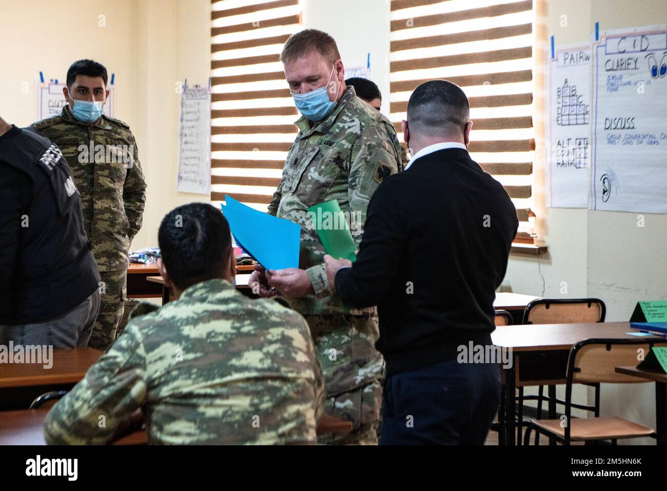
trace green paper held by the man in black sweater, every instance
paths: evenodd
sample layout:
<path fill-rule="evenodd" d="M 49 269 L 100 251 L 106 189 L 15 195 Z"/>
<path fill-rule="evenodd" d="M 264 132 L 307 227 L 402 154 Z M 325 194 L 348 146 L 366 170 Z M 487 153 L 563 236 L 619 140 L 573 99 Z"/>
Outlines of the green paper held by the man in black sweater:
<path fill-rule="evenodd" d="M 328 255 L 335 259 L 350 259 L 352 263 L 356 261 L 356 246 L 350 233 L 348 217 L 340 210 L 337 200 L 311 206 L 307 216 Z"/>

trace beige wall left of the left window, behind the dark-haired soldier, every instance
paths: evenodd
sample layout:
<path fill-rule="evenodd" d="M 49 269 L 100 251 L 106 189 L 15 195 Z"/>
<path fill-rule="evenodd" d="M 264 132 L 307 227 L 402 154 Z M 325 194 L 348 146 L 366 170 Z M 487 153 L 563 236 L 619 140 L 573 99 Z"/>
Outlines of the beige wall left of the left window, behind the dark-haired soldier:
<path fill-rule="evenodd" d="M 157 245 L 162 216 L 205 201 L 176 192 L 177 82 L 207 84 L 208 0 L 0 0 L 0 116 L 17 126 L 35 119 L 35 81 L 64 80 L 76 59 L 93 58 L 115 73 L 115 117 L 130 125 L 148 182 L 143 228 L 132 247 Z M 99 26 L 104 15 L 105 27 Z M 24 82 L 28 93 L 23 94 Z"/>

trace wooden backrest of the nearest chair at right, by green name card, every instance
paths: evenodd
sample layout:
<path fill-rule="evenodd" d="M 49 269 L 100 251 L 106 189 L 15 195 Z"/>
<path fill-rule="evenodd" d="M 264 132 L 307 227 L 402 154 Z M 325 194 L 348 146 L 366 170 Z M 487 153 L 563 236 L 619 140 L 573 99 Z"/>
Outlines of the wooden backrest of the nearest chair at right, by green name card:
<path fill-rule="evenodd" d="M 616 373 L 616 367 L 635 367 L 648 355 L 651 346 L 667 346 L 667 341 L 648 343 L 644 339 L 586 339 L 570 351 L 568 379 L 573 383 L 638 383 L 644 379 Z"/>

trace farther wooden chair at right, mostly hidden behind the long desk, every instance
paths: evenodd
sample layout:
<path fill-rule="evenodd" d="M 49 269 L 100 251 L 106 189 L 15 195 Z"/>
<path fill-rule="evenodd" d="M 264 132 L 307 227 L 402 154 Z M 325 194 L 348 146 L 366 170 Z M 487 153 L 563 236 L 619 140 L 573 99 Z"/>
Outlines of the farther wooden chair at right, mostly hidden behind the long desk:
<path fill-rule="evenodd" d="M 606 307 L 600 299 L 536 299 L 526 305 L 524 324 L 572 324 L 604 322 Z M 591 384 L 595 389 L 594 405 L 573 403 L 572 407 L 584 411 L 592 411 L 600 416 L 600 385 Z M 548 395 L 544 395 L 544 385 L 538 387 L 538 395 L 524 396 L 524 387 L 519 387 L 518 397 L 518 439 L 521 444 L 523 431 L 524 401 L 538 401 L 538 420 L 542 419 L 542 402 L 550 403 L 549 418 L 554 418 L 555 405 L 563 405 L 565 401 L 556 397 L 556 385 L 548 385 Z M 535 437 L 540 442 L 539 434 Z"/>

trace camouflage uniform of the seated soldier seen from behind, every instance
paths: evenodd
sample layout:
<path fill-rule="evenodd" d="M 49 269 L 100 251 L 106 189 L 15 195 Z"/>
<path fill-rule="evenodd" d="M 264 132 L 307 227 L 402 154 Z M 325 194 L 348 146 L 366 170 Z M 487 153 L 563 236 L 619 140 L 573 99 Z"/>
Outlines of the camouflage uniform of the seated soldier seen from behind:
<path fill-rule="evenodd" d="M 221 279 L 145 305 L 53 406 L 47 443 L 105 444 L 139 407 L 150 444 L 316 442 L 324 386 L 300 315 Z"/>

